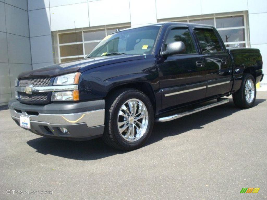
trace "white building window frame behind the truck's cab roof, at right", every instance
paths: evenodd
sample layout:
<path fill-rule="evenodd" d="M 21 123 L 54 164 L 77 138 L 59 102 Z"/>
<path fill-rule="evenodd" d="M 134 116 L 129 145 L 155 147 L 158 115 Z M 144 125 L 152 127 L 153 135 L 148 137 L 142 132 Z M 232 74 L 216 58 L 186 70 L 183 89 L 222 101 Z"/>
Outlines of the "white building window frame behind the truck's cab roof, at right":
<path fill-rule="evenodd" d="M 158 19 L 158 22 L 166 22 L 166 21 L 169 21 L 169 22 L 184 22 L 184 21 L 186 21 L 186 23 L 190 23 L 189 22 L 190 20 L 213 18 L 214 27 L 216 28 L 216 18 L 231 17 L 231 16 L 233 16 L 233 17 L 234 16 L 242 16 L 243 19 L 244 19 L 244 26 L 218 28 L 217 31 L 220 31 L 220 30 L 233 30 L 233 29 L 244 29 L 245 30 L 245 41 L 225 42 L 224 45 L 226 46 L 226 45 L 232 45 L 232 44 L 245 44 L 245 47 L 249 48 L 250 47 L 250 39 L 249 39 L 248 11 L 230 12 L 230 13 L 216 13 L 216 14 L 207 14 L 207 15 L 195 15 L 195 16 L 186 16 L 186 17 L 179 17 L 179 18 L 168 18 L 168 19 Z"/>

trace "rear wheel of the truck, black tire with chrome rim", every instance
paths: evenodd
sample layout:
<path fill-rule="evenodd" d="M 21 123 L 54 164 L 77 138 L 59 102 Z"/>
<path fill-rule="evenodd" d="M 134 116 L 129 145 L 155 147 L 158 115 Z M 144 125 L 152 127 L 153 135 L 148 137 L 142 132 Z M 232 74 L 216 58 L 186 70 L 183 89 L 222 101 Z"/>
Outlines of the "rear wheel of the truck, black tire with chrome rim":
<path fill-rule="evenodd" d="M 233 94 L 234 104 L 239 108 L 251 108 L 256 100 L 256 83 L 252 74 L 245 73 L 240 89 Z"/>

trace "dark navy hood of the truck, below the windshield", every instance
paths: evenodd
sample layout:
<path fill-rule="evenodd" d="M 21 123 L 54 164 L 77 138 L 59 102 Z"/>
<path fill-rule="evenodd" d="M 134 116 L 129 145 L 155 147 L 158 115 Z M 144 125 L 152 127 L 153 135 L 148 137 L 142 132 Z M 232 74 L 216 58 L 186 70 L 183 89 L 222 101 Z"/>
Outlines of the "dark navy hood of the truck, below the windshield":
<path fill-rule="evenodd" d="M 145 58 L 146 55 L 115 55 L 115 56 L 105 56 L 97 58 L 86 58 L 83 60 L 59 63 L 55 65 L 42 67 L 36 70 L 25 71 L 19 74 L 18 78 L 20 79 L 29 77 L 55 77 L 58 75 L 73 73 L 77 71 L 83 72 L 104 65 L 140 60 Z"/>

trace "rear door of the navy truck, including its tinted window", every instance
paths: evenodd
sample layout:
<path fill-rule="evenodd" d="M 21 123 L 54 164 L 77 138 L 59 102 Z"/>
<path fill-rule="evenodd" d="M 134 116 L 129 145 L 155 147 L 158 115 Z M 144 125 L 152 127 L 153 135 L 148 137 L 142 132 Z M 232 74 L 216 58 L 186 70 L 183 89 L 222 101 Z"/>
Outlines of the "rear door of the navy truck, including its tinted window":
<path fill-rule="evenodd" d="M 206 97 L 226 94 L 231 86 L 231 58 L 218 33 L 211 27 L 195 27 L 207 69 Z"/>

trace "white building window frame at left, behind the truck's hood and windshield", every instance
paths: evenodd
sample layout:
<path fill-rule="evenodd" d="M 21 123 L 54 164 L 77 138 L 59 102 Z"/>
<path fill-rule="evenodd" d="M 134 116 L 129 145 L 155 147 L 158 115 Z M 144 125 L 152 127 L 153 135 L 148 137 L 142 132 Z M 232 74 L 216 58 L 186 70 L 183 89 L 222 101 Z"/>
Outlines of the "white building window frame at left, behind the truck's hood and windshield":
<path fill-rule="evenodd" d="M 66 58 L 77 58 L 78 59 L 84 59 L 88 54 L 85 54 L 85 44 L 86 43 L 93 43 L 93 42 L 101 42 L 103 39 L 99 40 L 92 40 L 92 41 L 84 41 L 84 32 L 86 31 L 97 31 L 97 30 L 105 30 L 105 35 L 107 36 L 107 31 L 109 29 L 118 29 L 118 28 L 130 28 L 131 24 L 130 23 L 124 23 L 124 24 L 116 24 L 116 25 L 104 25 L 104 26 L 97 26 L 97 27 L 88 27 L 88 28 L 81 28 L 81 29 L 72 29 L 72 30 L 64 30 L 64 31 L 54 31 L 54 58 L 56 63 L 61 63 L 61 59 L 66 59 Z M 76 32 L 82 32 L 82 41 L 81 42 L 71 42 L 71 43 L 59 43 L 59 35 L 64 34 L 64 33 L 76 33 Z M 65 45 L 77 45 L 77 44 L 83 44 L 83 55 L 74 55 L 74 56 L 65 56 L 61 57 L 60 55 L 60 46 L 65 46 Z"/>

